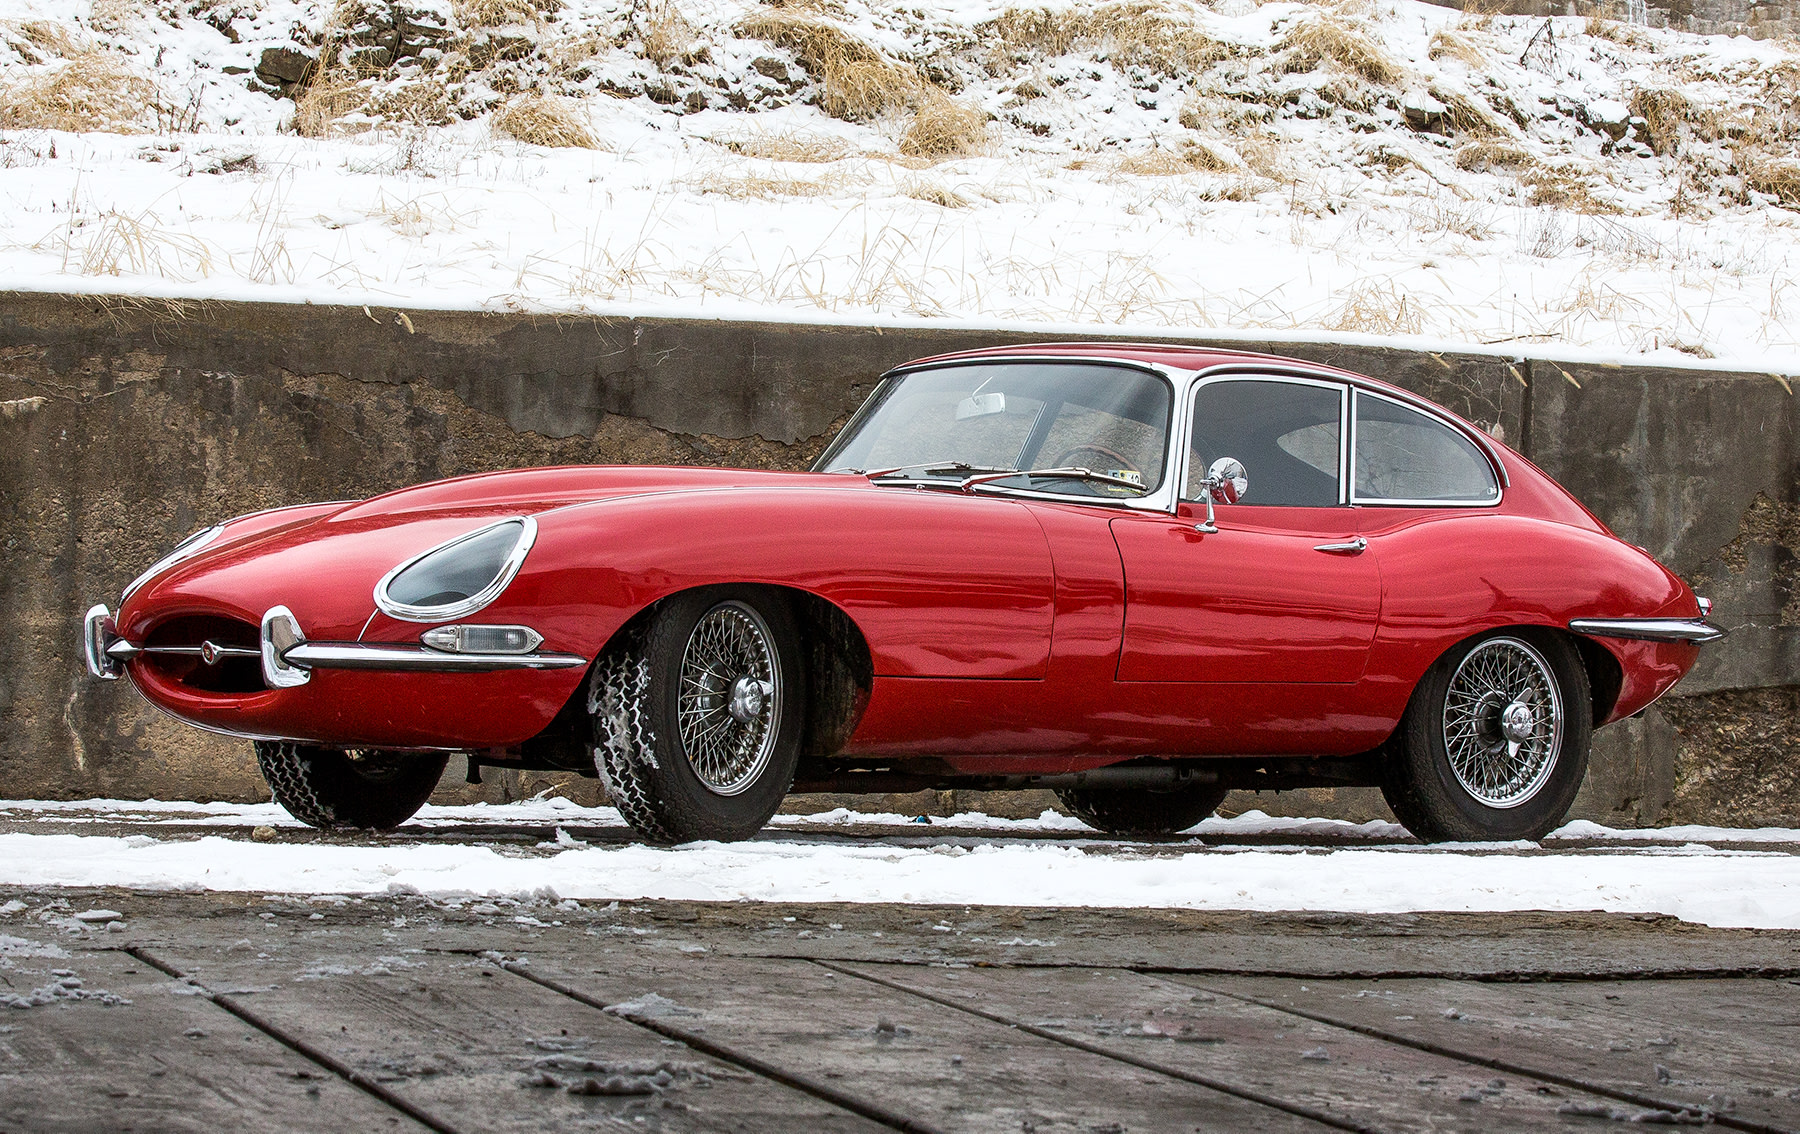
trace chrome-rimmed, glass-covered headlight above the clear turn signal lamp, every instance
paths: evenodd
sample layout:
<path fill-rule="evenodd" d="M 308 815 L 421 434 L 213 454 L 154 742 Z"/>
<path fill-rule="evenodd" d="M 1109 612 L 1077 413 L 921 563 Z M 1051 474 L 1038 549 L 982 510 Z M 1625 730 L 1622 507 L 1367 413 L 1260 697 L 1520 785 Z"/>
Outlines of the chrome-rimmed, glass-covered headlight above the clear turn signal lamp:
<path fill-rule="evenodd" d="M 531 517 L 477 527 L 394 567 L 374 587 L 374 605 L 409 623 L 443 623 L 500 598 L 538 538 Z"/>

